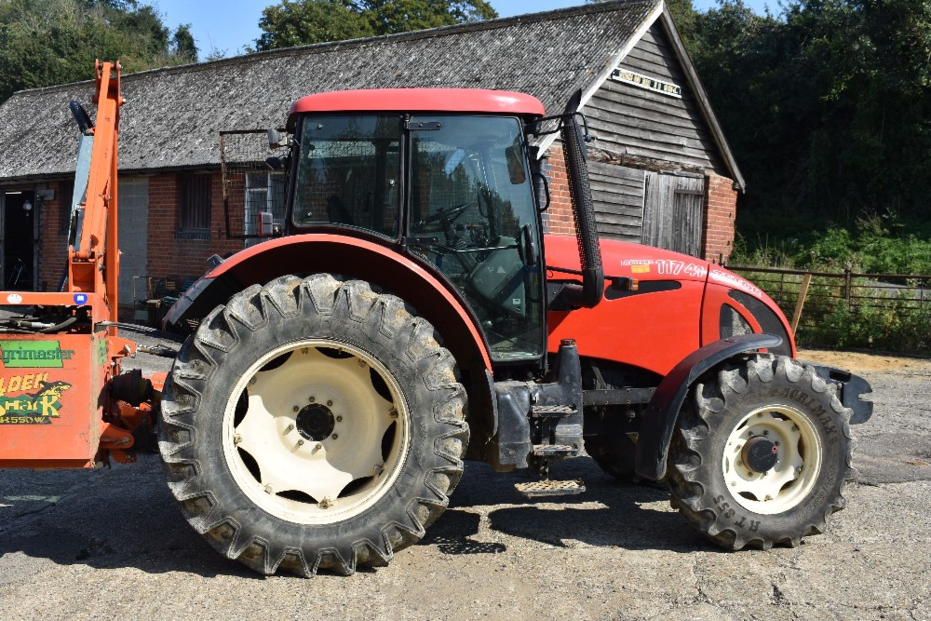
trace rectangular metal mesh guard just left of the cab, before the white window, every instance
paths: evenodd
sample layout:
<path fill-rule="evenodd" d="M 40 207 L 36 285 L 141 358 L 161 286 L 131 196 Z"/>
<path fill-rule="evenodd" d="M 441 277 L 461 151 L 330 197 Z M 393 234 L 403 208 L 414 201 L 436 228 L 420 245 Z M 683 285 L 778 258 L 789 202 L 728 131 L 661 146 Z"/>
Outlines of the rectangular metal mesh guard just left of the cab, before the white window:
<path fill-rule="evenodd" d="M 260 211 L 270 211 L 276 223 L 284 223 L 285 172 L 270 169 L 265 158 L 270 155 L 280 157 L 285 153 L 283 148 L 268 148 L 267 134 L 263 129 L 220 132 L 227 236 L 242 238 L 247 246 L 258 243 Z"/>

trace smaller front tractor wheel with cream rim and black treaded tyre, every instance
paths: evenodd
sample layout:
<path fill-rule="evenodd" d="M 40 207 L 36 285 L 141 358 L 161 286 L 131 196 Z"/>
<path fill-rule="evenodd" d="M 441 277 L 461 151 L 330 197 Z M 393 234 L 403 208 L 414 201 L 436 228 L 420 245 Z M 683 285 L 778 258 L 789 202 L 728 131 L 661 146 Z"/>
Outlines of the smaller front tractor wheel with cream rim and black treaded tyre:
<path fill-rule="evenodd" d="M 758 354 L 695 385 L 669 451 L 672 505 L 728 549 L 822 533 L 853 479 L 850 410 L 836 385 Z"/>

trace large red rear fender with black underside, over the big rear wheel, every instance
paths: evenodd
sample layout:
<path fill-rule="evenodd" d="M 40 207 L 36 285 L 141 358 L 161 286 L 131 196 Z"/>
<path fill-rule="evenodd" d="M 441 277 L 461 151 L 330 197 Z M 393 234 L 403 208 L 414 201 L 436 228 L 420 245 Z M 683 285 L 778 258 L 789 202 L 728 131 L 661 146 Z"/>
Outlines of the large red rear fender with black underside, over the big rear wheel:
<path fill-rule="evenodd" d="M 191 331 L 236 292 L 288 274 L 360 278 L 411 304 L 439 332 L 460 370 L 476 378 L 473 385 L 479 386 L 479 392 L 488 391 L 485 371 L 491 371 L 492 363 L 477 320 L 452 285 L 447 286 L 397 247 L 359 237 L 305 234 L 270 239 L 213 264 L 171 307 L 165 317 L 167 330 Z M 491 403 L 492 395 L 476 400 Z"/>

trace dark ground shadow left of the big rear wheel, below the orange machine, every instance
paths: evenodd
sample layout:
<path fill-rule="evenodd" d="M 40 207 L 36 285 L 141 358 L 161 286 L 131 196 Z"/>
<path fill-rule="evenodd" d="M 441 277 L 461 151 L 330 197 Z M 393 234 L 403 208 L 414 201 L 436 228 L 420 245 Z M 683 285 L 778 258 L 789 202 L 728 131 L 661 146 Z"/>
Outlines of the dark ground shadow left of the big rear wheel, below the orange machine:
<path fill-rule="evenodd" d="M 0 574 L 39 572 L 47 561 L 147 574 L 263 579 L 217 554 L 187 524 L 156 455 L 142 455 L 134 466 L 94 472 L 5 471 Z"/>

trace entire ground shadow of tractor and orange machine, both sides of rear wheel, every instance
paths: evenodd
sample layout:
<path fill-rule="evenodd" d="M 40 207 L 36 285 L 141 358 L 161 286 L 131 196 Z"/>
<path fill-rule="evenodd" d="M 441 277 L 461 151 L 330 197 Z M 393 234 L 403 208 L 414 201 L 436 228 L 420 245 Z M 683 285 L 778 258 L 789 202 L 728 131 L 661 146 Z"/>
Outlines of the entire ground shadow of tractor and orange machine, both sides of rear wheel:
<path fill-rule="evenodd" d="M 553 466 L 554 479 L 584 479 L 587 492 L 531 500 L 514 490 L 524 473 L 469 462 L 449 509 L 418 548 L 494 555 L 520 540 L 554 547 L 716 550 L 668 510 L 668 493 L 618 483 L 587 458 Z M 25 559 L 23 557 L 26 557 Z M 264 580 L 217 554 L 182 518 L 156 455 L 112 470 L 9 470 L 0 480 L 0 574 L 32 574 L 50 561 Z M 377 573 L 378 570 L 360 571 Z"/>

